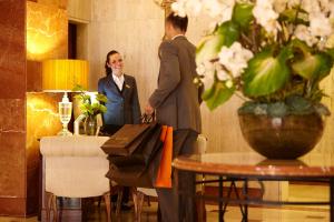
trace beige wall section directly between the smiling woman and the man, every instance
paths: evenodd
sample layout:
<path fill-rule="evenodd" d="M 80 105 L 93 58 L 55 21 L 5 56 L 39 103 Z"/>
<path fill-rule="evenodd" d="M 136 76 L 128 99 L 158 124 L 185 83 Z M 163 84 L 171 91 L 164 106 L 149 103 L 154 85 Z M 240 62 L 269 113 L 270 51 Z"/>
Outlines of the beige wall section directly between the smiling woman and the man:
<path fill-rule="evenodd" d="M 150 0 L 95 0 L 89 24 L 90 89 L 105 75 L 106 54 L 115 49 L 125 58 L 125 71 L 139 85 L 141 108 L 157 81 L 158 46 L 164 11 Z"/>

